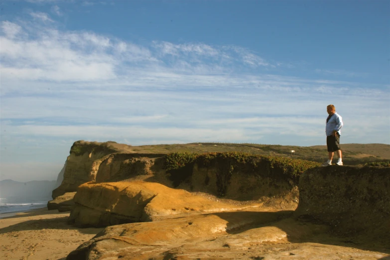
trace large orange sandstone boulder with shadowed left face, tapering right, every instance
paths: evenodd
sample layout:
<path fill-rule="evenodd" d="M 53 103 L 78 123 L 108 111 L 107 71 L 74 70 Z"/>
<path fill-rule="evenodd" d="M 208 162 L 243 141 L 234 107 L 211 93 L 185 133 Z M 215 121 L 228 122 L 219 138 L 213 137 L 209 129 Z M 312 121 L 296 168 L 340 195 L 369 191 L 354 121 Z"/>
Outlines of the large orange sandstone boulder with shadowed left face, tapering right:
<path fill-rule="evenodd" d="M 235 206 L 145 181 L 86 183 L 74 197 L 69 217 L 77 226 L 105 227 L 166 217 L 258 208 L 259 203 Z"/>

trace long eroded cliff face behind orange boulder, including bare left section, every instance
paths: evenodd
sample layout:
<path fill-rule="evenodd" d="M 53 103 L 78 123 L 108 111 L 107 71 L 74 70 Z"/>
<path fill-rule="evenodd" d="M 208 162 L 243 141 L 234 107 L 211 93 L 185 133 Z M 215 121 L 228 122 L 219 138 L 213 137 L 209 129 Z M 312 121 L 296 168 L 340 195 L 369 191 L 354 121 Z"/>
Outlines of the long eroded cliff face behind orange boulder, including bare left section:
<path fill-rule="evenodd" d="M 96 182 L 124 180 L 146 180 L 157 182 L 170 188 L 190 192 L 202 192 L 239 201 L 273 199 L 278 206 L 296 207 L 298 202 L 297 183 L 280 176 L 264 172 L 253 172 L 238 168 L 229 178 L 221 177 L 216 165 L 204 167 L 197 163 L 189 164 L 180 170 L 166 171 L 162 154 L 111 154 L 101 162 Z M 220 196 L 221 197 L 221 196 Z M 276 204 L 275 204 L 276 205 Z"/>

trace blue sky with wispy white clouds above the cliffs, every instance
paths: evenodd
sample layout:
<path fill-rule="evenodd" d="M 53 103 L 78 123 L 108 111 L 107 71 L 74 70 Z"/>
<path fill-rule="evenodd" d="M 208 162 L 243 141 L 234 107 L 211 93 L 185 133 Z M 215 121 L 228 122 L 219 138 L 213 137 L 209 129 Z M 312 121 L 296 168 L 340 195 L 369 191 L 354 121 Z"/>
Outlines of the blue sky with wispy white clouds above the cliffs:
<path fill-rule="evenodd" d="M 55 179 L 79 139 L 325 144 L 329 104 L 342 143 L 390 143 L 390 1 L 0 9 L 1 179 Z"/>

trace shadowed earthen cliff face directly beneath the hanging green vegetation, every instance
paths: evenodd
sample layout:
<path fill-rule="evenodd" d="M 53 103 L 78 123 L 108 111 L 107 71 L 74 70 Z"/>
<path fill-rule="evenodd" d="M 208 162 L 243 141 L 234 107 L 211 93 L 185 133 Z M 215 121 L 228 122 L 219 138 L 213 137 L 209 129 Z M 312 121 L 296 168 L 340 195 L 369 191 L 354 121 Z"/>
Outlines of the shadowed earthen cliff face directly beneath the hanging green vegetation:
<path fill-rule="evenodd" d="M 297 184 L 287 178 L 269 175 L 265 170 L 254 172 L 237 168 L 229 177 L 221 176 L 218 166 L 202 167 L 194 164 L 190 176 L 176 188 L 205 192 L 223 198 L 249 201 L 260 200 L 278 207 L 295 208 L 298 202 Z"/>

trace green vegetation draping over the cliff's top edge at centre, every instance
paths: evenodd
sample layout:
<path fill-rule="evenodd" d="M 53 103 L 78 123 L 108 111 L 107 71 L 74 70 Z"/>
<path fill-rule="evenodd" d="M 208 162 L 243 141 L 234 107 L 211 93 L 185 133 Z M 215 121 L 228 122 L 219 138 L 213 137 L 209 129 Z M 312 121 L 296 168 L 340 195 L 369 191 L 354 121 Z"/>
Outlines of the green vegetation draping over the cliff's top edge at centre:
<path fill-rule="evenodd" d="M 296 186 L 301 173 L 320 165 L 320 163 L 313 161 L 243 152 L 209 152 L 202 154 L 175 152 L 164 156 L 164 168 L 174 185 L 179 185 L 192 175 L 195 163 L 201 168 L 214 167 L 217 169 L 218 194 L 221 196 L 224 196 L 234 172 L 284 179 L 290 185 Z"/>

